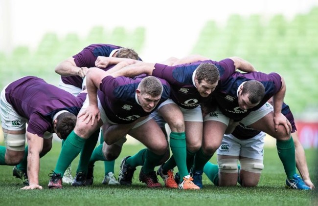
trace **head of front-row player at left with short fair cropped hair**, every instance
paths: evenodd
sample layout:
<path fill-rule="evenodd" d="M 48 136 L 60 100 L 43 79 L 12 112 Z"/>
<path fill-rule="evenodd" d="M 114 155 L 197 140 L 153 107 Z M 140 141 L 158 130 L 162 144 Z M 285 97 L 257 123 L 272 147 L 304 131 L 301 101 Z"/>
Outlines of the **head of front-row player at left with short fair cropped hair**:
<path fill-rule="evenodd" d="M 159 103 L 163 91 L 162 83 L 156 77 L 142 79 L 136 90 L 137 99 L 146 112 L 151 112 Z"/>

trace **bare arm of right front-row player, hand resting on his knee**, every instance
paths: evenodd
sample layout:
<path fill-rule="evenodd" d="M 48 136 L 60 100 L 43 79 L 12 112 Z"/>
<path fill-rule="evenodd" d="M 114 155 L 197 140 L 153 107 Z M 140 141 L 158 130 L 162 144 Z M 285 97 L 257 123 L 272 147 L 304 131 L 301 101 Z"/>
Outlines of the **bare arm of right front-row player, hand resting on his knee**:
<path fill-rule="evenodd" d="M 283 77 L 281 77 L 281 82 L 282 84 L 279 91 L 273 96 L 275 131 L 278 130 L 278 125 L 282 124 L 284 125 L 286 132 L 289 134 L 290 131 L 292 130 L 292 125 L 286 119 L 286 117 L 281 113 L 282 105 L 284 103 L 284 97 L 286 93 L 286 84 Z"/>

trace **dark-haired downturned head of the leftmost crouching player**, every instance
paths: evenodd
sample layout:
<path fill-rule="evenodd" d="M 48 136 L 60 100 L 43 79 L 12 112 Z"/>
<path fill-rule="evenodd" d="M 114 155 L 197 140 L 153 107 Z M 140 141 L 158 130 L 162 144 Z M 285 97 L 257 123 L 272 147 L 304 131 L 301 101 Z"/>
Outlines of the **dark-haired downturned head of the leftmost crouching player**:
<path fill-rule="evenodd" d="M 55 133 L 62 140 L 65 140 L 68 137 L 75 125 L 76 116 L 69 112 L 63 112 L 54 120 Z"/>

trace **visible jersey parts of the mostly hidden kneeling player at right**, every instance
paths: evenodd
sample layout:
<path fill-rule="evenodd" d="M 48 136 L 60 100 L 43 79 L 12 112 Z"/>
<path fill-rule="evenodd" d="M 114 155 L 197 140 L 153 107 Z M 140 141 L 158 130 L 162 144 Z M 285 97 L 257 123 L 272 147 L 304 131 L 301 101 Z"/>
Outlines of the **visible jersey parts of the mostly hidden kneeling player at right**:
<path fill-rule="evenodd" d="M 291 132 L 294 133 L 297 130 L 296 125 L 295 125 L 294 116 L 293 116 L 293 113 L 291 112 L 291 110 L 289 109 L 289 106 L 285 103 L 283 103 L 283 106 L 282 106 L 282 114 L 292 124 L 292 131 Z M 260 133 L 259 130 L 253 129 L 249 126 L 245 126 L 244 124 L 240 123 L 239 125 L 237 125 L 235 127 L 234 131 L 232 132 L 232 135 L 239 140 L 247 140 L 247 139 L 255 137 L 259 133 Z"/>

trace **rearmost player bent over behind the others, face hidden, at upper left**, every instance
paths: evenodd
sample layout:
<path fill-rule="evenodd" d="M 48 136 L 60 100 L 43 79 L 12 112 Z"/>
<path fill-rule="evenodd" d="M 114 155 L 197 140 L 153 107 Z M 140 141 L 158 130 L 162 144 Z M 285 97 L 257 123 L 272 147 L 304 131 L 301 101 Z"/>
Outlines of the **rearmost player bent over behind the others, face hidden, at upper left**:
<path fill-rule="evenodd" d="M 140 60 L 138 54 L 129 48 L 123 48 L 121 46 L 115 46 L 111 44 L 91 44 L 85 47 L 78 54 L 67 60 L 61 62 L 56 66 L 55 72 L 61 75 L 59 87 L 70 92 L 71 94 L 77 95 L 82 91 L 83 79 L 86 76 L 87 70 L 90 67 L 94 67 L 96 62 L 103 61 L 104 66 L 101 67 L 103 70 L 107 70 L 109 67 L 106 65 L 116 64 L 112 58 L 104 61 L 104 57 L 117 57 L 117 58 L 128 58 Z M 103 143 L 103 137 L 101 134 L 101 143 Z M 62 145 L 64 144 L 64 141 Z M 88 142 L 87 142 L 88 144 Z M 93 142 L 91 144 L 94 144 Z M 107 149 L 107 152 L 114 153 L 120 148 L 116 146 Z M 105 161 L 105 177 L 103 184 L 116 185 L 119 184 L 114 177 L 114 161 Z M 75 176 L 75 180 L 77 176 Z M 66 170 L 63 176 L 64 183 L 72 183 L 72 174 L 70 166 Z"/>

